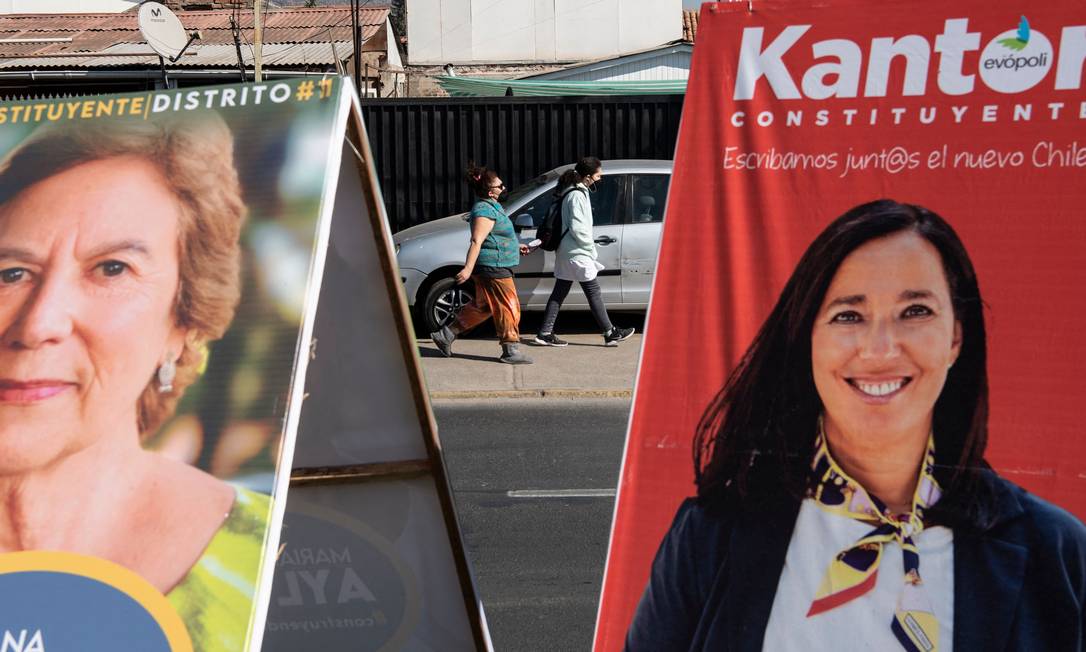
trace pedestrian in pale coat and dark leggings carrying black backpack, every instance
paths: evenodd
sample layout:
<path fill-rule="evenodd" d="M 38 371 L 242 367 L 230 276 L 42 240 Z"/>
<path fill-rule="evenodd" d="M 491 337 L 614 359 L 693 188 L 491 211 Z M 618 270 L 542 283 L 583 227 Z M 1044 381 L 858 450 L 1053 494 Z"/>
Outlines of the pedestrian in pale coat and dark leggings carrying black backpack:
<path fill-rule="evenodd" d="M 596 243 L 592 239 L 592 202 L 589 191 L 603 177 L 603 165 L 595 156 L 581 159 L 572 170 L 567 170 L 558 179 L 555 201 L 561 202 L 561 241 L 555 252 L 554 289 L 546 302 L 543 324 L 534 343 L 544 347 L 565 347 L 568 342 L 554 334 L 561 302 L 569 294 L 573 281 L 581 284 L 589 300 L 592 315 L 599 325 L 605 347 L 617 347 L 631 335 L 633 328 L 617 328 L 607 316 L 603 293 L 596 274 L 604 268 L 596 260 Z"/>

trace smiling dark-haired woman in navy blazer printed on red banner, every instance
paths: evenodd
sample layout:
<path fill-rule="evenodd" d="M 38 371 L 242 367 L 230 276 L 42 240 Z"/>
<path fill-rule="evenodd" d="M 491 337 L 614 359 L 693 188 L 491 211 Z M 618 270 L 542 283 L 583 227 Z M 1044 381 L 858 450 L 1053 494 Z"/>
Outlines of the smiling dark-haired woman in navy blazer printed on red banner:
<path fill-rule="evenodd" d="M 833 222 L 703 416 L 627 649 L 1084 649 L 1086 528 L 984 461 L 983 308 L 938 215 Z"/>

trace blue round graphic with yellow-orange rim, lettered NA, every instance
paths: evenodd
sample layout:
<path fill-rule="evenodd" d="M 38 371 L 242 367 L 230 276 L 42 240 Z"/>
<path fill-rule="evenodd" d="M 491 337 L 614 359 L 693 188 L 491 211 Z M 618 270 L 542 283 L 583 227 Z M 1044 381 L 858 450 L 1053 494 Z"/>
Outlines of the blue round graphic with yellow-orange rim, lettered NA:
<path fill-rule="evenodd" d="M 0 651 L 192 650 L 179 616 L 135 573 L 59 552 L 0 555 Z"/>

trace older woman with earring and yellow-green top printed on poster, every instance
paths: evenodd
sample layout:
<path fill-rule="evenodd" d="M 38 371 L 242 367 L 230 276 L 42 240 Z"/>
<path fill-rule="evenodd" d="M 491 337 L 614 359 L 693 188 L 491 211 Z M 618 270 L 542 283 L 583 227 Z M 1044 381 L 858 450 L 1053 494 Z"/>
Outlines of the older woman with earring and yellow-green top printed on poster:
<path fill-rule="evenodd" d="M 241 649 L 266 497 L 141 442 L 238 303 L 244 213 L 217 116 L 46 126 L 0 166 L 0 553 L 67 551 Z"/>

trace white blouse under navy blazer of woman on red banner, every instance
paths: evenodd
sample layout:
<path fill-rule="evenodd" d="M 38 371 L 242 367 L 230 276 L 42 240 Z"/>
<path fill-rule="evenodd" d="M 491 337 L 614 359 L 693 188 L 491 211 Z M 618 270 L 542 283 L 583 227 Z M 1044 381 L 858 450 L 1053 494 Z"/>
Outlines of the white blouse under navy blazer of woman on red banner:
<path fill-rule="evenodd" d="M 879 576 L 871 591 L 836 609 L 807 617 L 830 562 L 874 526 L 831 514 L 806 499 L 792 532 L 776 597 L 769 614 L 762 650 L 767 652 L 899 652 L 891 631 L 905 585 L 900 543 L 883 546 Z M 920 551 L 920 577 L 939 623 L 939 652 L 954 642 L 954 535 L 949 528 L 925 528 L 913 537 Z"/>

